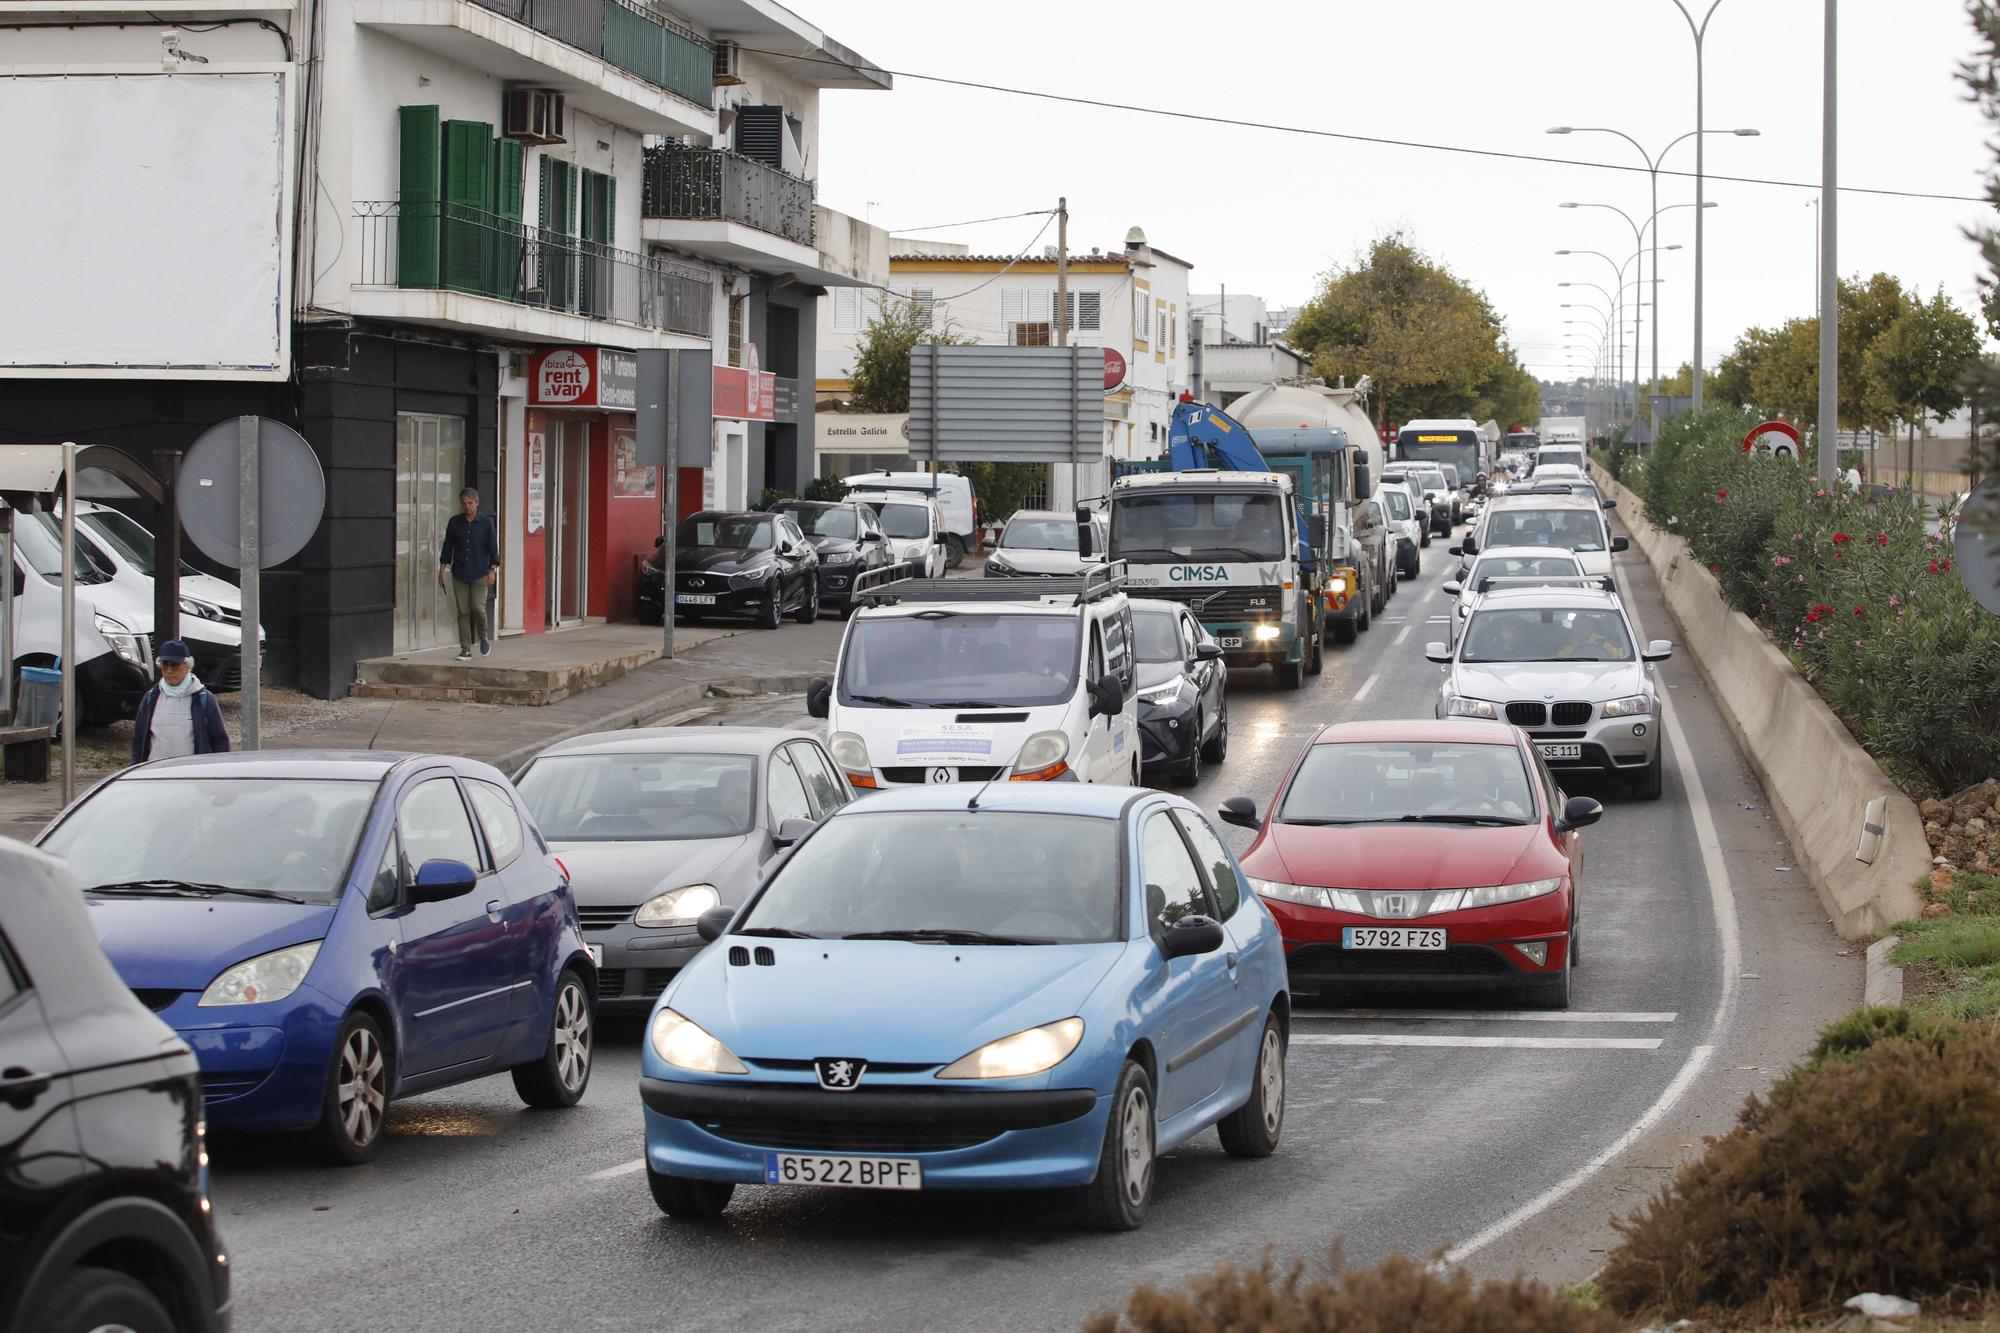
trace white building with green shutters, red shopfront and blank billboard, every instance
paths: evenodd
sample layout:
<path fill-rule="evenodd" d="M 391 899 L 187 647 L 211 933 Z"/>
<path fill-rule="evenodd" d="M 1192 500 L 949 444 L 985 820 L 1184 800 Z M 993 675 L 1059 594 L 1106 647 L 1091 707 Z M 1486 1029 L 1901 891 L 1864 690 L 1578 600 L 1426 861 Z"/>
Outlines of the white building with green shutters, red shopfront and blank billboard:
<path fill-rule="evenodd" d="M 0 106 L 50 132 L 48 226 L 0 254 L 0 306 L 58 314 L 0 340 L 0 432 L 154 462 L 242 412 L 298 428 L 326 508 L 266 576 L 274 681 L 338 697 L 358 660 L 456 640 L 436 550 L 466 484 L 500 522 L 502 632 L 632 616 L 666 518 L 640 350 L 712 366 L 682 374 L 714 422 L 682 440 L 682 512 L 812 476 L 818 294 L 858 280 L 816 244 L 818 96 L 890 80 L 788 10 L 6 10 Z M 148 244 L 112 246 L 106 210 Z"/>

